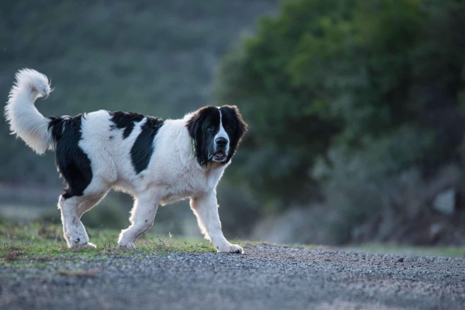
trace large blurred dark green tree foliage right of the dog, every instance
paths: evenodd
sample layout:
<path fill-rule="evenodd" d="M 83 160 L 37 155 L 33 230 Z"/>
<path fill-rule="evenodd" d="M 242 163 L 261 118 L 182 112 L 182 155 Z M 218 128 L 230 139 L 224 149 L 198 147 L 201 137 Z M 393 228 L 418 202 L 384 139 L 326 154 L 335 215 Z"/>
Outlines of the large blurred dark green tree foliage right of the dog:
<path fill-rule="evenodd" d="M 255 197 L 286 208 L 320 197 L 314 181 L 325 182 L 312 169 L 317 161 L 332 169 L 331 149 L 344 149 L 344 161 L 369 153 L 382 177 L 412 166 L 427 175 L 457 160 L 460 29 L 465 3 L 457 0 L 283 2 L 219 70 L 219 102 L 239 104 L 250 123 L 237 177 L 252 175 Z"/>

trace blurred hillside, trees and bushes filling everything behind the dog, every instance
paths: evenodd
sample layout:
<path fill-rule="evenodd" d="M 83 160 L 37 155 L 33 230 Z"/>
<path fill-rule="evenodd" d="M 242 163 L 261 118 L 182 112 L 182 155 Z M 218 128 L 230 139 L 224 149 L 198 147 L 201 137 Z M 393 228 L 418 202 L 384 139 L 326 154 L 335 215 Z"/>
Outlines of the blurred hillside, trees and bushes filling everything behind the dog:
<path fill-rule="evenodd" d="M 180 118 L 235 104 L 249 124 L 219 183 L 227 238 L 465 244 L 465 1 L 0 2 L 0 94 L 45 73 L 45 116 Z M 54 153 L 0 122 L 0 223 L 60 222 Z M 112 193 L 83 216 L 126 227 Z M 200 236 L 184 201 L 155 233 Z"/>

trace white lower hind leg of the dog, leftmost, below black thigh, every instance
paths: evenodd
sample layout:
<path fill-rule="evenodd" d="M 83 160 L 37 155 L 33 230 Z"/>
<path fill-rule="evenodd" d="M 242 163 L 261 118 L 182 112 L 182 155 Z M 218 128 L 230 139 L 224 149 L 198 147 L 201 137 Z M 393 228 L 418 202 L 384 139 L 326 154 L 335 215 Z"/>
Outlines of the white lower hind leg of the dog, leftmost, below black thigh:
<path fill-rule="evenodd" d="M 72 196 L 65 199 L 63 195 L 60 195 L 58 200 L 58 207 L 61 211 L 61 222 L 63 224 L 63 236 L 70 248 L 96 247 L 92 243 L 89 243 L 86 229 L 77 213 L 80 203 L 84 200 L 86 198 L 83 196 Z"/>

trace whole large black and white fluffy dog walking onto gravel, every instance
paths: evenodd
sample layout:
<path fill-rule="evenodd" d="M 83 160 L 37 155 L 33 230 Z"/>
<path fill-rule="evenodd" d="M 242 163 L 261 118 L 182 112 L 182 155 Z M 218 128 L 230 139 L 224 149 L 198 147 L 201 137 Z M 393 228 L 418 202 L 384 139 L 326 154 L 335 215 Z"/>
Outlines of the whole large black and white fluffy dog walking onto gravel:
<path fill-rule="evenodd" d="M 34 101 L 50 91 L 45 75 L 18 71 L 5 116 L 11 133 L 36 153 L 56 150 L 67 183 L 58 208 L 69 247 L 95 247 L 80 217 L 114 188 L 134 197 L 121 246 L 134 246 L 159 204 L 189 198 L 205 238 L 219 252 L 243 252 L 223 236 L 215 190 L 247 130 L 236 106 L 206 106 L 177 120 L 106 110 L 44 117 Z"/>

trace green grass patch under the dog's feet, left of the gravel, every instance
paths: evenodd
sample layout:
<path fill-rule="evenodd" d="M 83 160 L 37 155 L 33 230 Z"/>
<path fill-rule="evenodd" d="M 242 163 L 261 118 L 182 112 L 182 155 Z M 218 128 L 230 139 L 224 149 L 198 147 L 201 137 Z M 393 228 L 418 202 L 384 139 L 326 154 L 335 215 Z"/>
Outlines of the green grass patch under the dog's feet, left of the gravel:
<path fill-rule="evenodd" d="M 0 262 L 32 259 L 39 262 L 54 258 L 105 259 L 108 255 L 165 255 L 169 252 L 216 252 L 207 240 L 176 238 L 168 235 L 143 234 L 134 249 L 120 248 L 116 243 L 119 230 L 88 229 L 96 249 L 69 249 L 61 225 L 33 223 L 25 226 L 0 224 Z"/>

